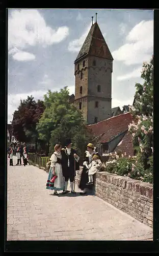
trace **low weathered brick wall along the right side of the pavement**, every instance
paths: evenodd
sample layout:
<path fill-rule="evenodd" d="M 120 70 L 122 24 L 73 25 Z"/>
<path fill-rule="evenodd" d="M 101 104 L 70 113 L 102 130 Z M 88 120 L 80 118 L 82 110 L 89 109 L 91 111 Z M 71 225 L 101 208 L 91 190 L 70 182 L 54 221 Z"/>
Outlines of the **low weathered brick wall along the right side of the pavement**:
<path fill-rule="evenodd" d="M 82 167 L 76 173 L 77 183 L 80 181 L 81 172 Z M 94 181 L 96 196 L 152 227 L 152 184 L 107 172 L 97 173 Z"/>

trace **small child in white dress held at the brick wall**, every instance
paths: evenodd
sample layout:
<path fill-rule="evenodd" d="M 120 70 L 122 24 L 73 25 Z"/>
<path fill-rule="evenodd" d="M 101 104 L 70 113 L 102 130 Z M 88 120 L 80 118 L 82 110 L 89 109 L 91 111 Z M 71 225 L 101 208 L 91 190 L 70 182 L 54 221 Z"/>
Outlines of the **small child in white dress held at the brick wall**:
<path fill-rule="evenodd" d="M 88 179 L 89 179 L 89 182 L 87 183 L 88 185 L 89 184 L 92 184 L 93 183 L 93 175 L 97 172 L 100 171 L 100 168 L 102 167 L 102 162 L 101 160 L 99 159 L 99 156 L 98 155 L 93 155 L 92 157 L 92 161 L 91 163 L 88 165 L 89 167 L 89 170 L 88 170 Z"/>

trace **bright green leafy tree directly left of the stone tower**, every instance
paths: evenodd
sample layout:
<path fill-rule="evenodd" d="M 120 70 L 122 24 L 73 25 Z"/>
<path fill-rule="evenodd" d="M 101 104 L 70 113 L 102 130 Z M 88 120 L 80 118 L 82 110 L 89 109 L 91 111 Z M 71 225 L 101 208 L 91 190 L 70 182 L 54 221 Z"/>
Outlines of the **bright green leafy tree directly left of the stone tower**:
<path fill-rule="evenodd" d="M 83 115 L 69 102 L 67 87 L 60 92 L 48 91 L 44 95 L 45 111 L 37 124 L 40 139 L 50 142 L 49 152 L 56 143 L 64 145 L 71 138 L 78 154 L 82 154 L 90 134 L 87 131 Z"/>

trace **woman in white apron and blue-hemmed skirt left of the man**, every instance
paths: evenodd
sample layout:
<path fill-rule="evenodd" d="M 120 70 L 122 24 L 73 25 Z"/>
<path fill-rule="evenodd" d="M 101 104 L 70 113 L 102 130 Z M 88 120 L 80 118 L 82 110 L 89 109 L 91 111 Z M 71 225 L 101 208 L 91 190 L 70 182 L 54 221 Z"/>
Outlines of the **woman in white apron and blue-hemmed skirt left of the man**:
<path fill-rule="evenodd" d="M 46 189 L 54 190 L 54 195 L 58 196 L 57 190 L 64 189 L 64 177 L 62 173 L 62 165 L 61 165 L 61 148 L 60 144 L 56 144 L 54 147 L 55 152 L 50 157 L 50 169 L 48 174 L 48 179 L 46 183 Z M 57 176 L 54 183 L 50 182 L 52 176 Z"/>

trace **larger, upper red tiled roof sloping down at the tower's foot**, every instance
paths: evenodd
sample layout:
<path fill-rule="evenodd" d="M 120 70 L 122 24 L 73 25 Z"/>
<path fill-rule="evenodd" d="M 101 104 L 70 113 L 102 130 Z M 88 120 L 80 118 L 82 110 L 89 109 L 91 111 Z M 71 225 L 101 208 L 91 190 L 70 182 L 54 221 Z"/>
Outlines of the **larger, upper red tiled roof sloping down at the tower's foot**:
<path fill-rule="evenodd" d="M 87 125 L 88 129 L 99 136 L 98 142 L 109 142 L 114 136 L 128 130 L 128 124 L 133 121 L 130 112 L 111 117 L 95 124 Z"/>

